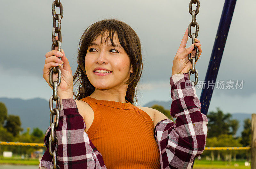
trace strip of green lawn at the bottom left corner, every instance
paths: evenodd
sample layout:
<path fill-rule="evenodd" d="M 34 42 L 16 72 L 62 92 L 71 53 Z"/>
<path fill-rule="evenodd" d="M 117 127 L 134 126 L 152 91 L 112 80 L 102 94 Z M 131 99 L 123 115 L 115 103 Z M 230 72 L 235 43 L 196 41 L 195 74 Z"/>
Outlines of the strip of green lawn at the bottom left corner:
<path fill-rule="evenodd" d="M 38 159 L 0 158 L 0 164 L 39 165 Z"/>

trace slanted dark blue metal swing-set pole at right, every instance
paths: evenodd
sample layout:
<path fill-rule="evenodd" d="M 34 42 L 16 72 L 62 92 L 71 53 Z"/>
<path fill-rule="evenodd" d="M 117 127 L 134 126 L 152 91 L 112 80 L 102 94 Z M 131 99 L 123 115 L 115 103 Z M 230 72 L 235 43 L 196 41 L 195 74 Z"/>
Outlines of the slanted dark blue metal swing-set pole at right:
<path fill-rule="evenodd" d="M 216 78 L 220 68 L 220 61 L 225 48 L 226 40 L 228 37 L 228 31 L 233 17 L 233 13 L 236 6 L 236 0 L 225 0 L 222 14 L 220 17 L 220 23 L 216 34 L 215 42 L 212 48 L 212 55 L 208 65 L 208 69 L 205 76 L 205 86 L 201 92 L 200 102 L 202 106 L 202 113 L 207 115 L 210 101 L 212 98 L 212 92 L 215 86 Z M 213 84 L 213 87 L 209 83 Z M 207 89 L 208 88 L 208 89 Z M 195 162 L 195 158 L 192 164 L 192 168 Z"/>

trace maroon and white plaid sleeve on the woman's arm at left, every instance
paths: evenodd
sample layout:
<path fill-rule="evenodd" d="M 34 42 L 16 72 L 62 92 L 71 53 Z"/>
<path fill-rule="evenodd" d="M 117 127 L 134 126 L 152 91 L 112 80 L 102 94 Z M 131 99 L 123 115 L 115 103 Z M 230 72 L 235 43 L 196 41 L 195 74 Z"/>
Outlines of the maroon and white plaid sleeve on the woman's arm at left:
<path fill-rule="evenodd" d="M 59 127 L 56 129 L 58 138 L 58 165 L 60 168 L 106 169 L 102 155 L 92 144 L 85 129 L 83 117 L 78 113 L 74 99 L 62 99 Z M 53 158 L 49 153 L 49 127 L 44 138 L 45 151 L 39 168 L 50 169 Z M 57 150 L 55 144 L 53 149 Z"/>

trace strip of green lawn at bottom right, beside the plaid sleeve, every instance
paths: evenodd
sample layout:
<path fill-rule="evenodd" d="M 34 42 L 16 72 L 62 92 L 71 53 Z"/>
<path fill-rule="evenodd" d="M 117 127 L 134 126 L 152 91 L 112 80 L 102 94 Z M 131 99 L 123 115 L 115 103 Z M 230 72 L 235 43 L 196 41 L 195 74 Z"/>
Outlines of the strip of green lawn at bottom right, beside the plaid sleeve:
<path fill-rule="evenodd" d="M 228 161 L 207 161 L 207 160 L 195 160 L 193 169 L 219 169 L 219 168 L 237 168 L 237 169 L 249 169 L 251 166 L 246 167 L 244 161 L 231 161 L 231 164 L 228 165 Z M 235 167 L 235 164 L 239 166 Z"/>

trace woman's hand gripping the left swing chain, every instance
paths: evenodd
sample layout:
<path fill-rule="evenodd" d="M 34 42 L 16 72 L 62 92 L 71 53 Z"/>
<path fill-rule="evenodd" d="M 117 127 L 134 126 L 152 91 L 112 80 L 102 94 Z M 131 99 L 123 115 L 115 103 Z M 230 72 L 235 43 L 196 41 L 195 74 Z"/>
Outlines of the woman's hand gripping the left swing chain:
<path fill-rule="evenodd" d="M 58 40 L 58 37 L 56 36 L 56 40 Z M 44 63 L 44 80 L 48 83 L 48 85 L 53 89 L 53 87 L 49 83 L 49 73 L 51 67 L 59 66 L 60 64 L 60 70 L 61 70 L 61 81 L 60 85 L 58 86 L 58 95 L 59 96 L 66 96 L 73 99 L 73 75 L 72 70 L 69 65 L 68 59 L 65 56 L 65 53 L 63 49 L 61 49 L 61 52 L 57 50 L 58 48 L 55 47 L 55 50 L 52 50 L 50 52 L 47 52 L 45 54 L 45 63 Z M 60 57 L 61 60 L 58 58 Z M 54 80 L 57 81 L 58 74 L 53 73 L 52 75 L 52 82 Z M 61 98 L 62 99 L 62 98 Z"/>

